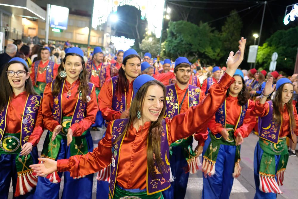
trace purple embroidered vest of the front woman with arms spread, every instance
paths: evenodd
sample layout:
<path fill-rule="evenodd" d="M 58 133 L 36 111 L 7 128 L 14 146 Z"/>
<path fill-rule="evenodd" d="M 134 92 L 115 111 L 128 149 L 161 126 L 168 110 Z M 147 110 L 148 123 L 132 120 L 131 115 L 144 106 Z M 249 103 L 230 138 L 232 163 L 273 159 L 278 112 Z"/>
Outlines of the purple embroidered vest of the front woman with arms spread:
<path fill-rule="evenodd" d="M 114 120 L 112 124 L 112 143 L 116 141 L 119 135 L 123 132 L 125 125 L 128 123 L 129 118 Z M 155 174 L 156 178 L 152 178 L 147 169 L 147 178 L 146 178 L 146 188 L 147 195 L 152 195 L 157 192 L 162 192 L 170 187 L 170 163 L 169 163 L 169 142 L 168 142 L 168 133 L 165 120 L 162 121 L 162 132 L 161 136 L 161 146 L 160 152 L 162 161 L 164 162 L 164 168 L 162 171 L 159 171 L 158 174 Z M 123 132 L 125 133 L 125 132 Z M 125 134 L 122 139 L 112 145 L 112 166 L 111 166 L 111 178 L 109 183 L 109 189 L 112 197 L 114 196 L 116 181 L 117 181 L 117 172 L 119 165 L 119 157 L 121 152 L 121 145 L 125 138 Z M 164 157 L 164 158 L 163 158 Z M 157 165 L 154 162 L 154 166 Z"/>

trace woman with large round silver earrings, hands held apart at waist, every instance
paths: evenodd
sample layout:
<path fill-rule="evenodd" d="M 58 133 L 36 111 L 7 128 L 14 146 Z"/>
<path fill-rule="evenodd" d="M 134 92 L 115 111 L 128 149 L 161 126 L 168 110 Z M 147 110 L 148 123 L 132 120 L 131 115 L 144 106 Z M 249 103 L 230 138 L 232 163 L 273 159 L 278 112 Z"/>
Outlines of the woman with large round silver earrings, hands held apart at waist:
<path fill-rule="evenodd" d="M 69 48 L 58 75 L 44 90 L 42 115 L 48 129 L 41 157 L 59 160 L 93 150 L 89 132 L 94 123 L 97 100 L 94 85 L 87 81 L 83 51 Z M 38 179 L 34 198 L 59 198 L 62 172 Z M 79 179 L 78 179 L 79 178 Z M 62 198 L 91 198 L 93 174 L 72 178 L 64 173 Z"/>

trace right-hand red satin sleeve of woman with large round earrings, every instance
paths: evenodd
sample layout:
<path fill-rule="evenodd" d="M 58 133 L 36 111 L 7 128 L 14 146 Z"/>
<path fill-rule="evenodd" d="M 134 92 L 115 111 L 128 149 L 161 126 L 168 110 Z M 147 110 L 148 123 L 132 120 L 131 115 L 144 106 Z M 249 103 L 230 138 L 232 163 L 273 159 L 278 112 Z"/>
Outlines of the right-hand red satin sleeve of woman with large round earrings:
<path fill-rule="evenodd" d="M 73 136 L 82 135 L 82 133 L 88 130 L 95 122 L 96 114 L 98 112 L 95 87 L 93 87 L 91 91 L 90 98 L 91 100 L 87 103 L 85 118 L 79 123 L 72 124 L 70 127 L 73 131 Z"/>

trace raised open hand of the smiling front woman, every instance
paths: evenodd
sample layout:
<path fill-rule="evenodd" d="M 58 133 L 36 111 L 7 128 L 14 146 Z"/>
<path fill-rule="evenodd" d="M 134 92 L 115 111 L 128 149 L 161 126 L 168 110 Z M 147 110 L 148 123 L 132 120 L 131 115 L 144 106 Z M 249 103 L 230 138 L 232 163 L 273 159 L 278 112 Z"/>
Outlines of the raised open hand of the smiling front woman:
<path fill-rule="evenodd" d="M 238 46 L 239 50 L 237 51 L 237 53 L 235 53 L 235 55 L 234 55 L 234 52 L 231 51 L 228 59 L 226 60 L 226 66 L 227 66 L 226 73 L 229 74 L 231 77 L 234 75 L 236 69 L 243 61 L 245 44 L 246 44 L 246 39 L 244 39 L 244 37 L 241 37 L 241 39 L 239 40 L 239 46 Z"/>

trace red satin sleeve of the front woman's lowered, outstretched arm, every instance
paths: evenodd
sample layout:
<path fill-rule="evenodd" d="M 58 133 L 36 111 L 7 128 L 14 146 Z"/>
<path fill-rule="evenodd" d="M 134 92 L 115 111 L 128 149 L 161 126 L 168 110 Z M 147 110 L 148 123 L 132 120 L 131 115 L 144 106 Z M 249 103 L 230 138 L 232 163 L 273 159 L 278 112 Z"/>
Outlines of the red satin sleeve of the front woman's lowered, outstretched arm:
<path fill-rule="evenodd" d="M 93 152 L 85 155 L 74 155 L 69 159 L 57 161 L 58 172 L 69 171 L 71 177 L 88 175 L 104 169 L 111 163 L 112 157 L 112 122 L 108 124 L 105 137 L 101 139 Z"/>

